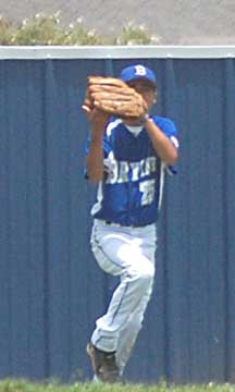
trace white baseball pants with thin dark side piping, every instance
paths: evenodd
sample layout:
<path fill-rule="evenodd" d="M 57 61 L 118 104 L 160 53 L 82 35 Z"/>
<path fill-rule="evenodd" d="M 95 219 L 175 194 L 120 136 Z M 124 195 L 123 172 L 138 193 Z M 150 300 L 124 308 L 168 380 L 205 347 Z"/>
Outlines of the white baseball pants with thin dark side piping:
<path fill-rule="evenodd" d="M 90 243 L 100 268 L 120 277 L 107 314 L 96 321 L 91 342 L 99 350 L 116 352 L 122 373 L 152 292 L 156 224 L 127 228 L 95 220 Z"/>

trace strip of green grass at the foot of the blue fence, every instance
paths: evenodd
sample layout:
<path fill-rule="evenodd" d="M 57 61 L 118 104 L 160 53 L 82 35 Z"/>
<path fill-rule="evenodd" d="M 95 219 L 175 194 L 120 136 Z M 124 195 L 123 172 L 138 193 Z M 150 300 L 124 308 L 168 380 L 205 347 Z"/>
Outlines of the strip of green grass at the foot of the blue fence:
<path fill-rule="evenodd" d="M 146 384 L 98 384 L 92 382 L 62 385 L 55 382 L 34 383 L 25 380 L 2 380 L 0 392 L 235 392 L 235 384 L 203 385 L 156 385 Z"/>

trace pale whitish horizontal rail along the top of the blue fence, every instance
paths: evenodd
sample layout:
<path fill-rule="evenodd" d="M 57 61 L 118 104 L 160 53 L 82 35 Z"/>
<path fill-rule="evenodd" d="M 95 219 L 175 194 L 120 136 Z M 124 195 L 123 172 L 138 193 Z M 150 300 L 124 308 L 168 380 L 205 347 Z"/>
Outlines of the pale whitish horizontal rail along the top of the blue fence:
<path fill-rule="evenodd" d="M 221 59 L 235 58 L 235 46 L 0 46 L 8 59 Z"/>

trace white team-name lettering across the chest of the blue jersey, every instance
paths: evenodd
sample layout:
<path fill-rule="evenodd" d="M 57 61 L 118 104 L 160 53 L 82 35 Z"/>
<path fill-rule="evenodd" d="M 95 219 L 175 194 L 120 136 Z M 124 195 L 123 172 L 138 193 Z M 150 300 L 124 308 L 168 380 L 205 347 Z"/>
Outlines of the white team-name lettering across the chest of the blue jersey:
<path fill-rule="evenodd" d="M 157 159 L 156 157 L 147 157 L 139 162 L 118 161 L 114 159 L 113 152 L 104 160 L 104 169 L 107 184 L 125 183 L 131 181 L 138 181 L 146 175 L 156 172 Z"/>

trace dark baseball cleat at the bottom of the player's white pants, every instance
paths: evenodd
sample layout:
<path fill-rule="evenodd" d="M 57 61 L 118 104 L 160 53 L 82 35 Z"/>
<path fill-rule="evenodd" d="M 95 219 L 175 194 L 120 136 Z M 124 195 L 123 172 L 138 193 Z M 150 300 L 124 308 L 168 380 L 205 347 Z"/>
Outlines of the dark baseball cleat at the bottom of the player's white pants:
<path fill-rule="evenodd" d="M 97 348 L 92 343 L 87 344 L 92 369 L 97 378 L 103 382 L 119 382 L 120 370 L 115 363 L 115 353 L 107 353 Z"/>

